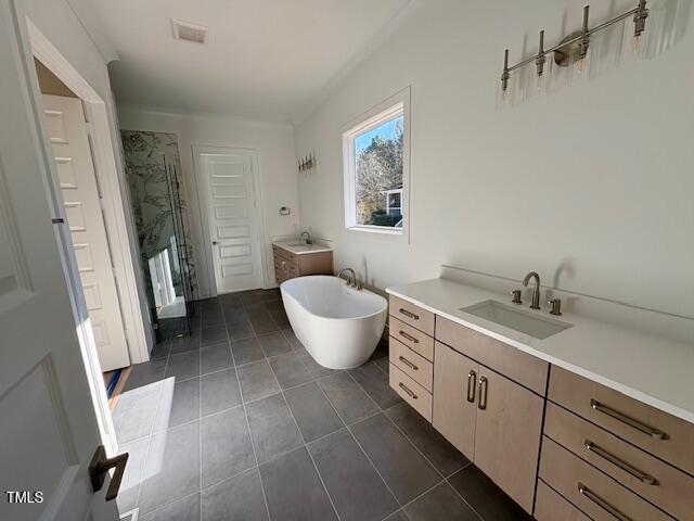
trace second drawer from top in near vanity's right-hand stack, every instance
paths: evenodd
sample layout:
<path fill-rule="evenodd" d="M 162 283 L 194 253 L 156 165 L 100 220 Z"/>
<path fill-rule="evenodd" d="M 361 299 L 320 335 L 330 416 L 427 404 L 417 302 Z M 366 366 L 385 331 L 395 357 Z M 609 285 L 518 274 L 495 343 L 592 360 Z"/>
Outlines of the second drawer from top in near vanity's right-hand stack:
<path fill-rule="evenodd" d="M 677 519 L 694 520 L 694 478 L 551 402 L 544 434 Z"/>

